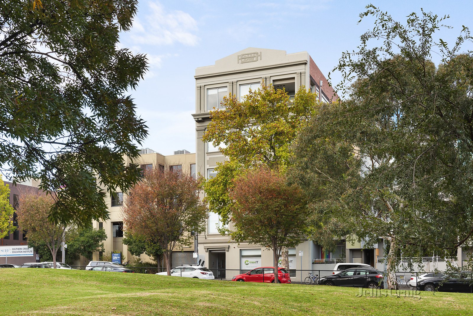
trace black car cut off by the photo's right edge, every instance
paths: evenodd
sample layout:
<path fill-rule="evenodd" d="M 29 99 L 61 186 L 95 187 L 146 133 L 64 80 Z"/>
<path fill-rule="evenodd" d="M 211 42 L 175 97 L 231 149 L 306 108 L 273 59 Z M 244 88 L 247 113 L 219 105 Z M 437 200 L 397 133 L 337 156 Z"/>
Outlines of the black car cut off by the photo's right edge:
<path fill-rule="evenodd" d="M 446 275 L 445 278 L 430 278 L 417 282 L 417 290 L 473 293 L 473 272 L 462 271 Z"/>

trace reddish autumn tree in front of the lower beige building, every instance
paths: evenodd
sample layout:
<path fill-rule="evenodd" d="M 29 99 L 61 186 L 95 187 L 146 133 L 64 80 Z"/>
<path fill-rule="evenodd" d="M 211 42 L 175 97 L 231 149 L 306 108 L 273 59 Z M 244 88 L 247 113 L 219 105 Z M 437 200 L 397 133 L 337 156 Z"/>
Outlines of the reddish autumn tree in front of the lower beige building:
<path fill-rule="evenodd" d="M 130 191 L 124 202 L 123 222 L 131 235 L 156 240 L 163 250 L 167 274 L 171 253 L 177 245 L 190 246 L 191 231 L 205 229 L 207 209 L 199 199 L 201 180 L 181 172 L 154 168 Z"/>

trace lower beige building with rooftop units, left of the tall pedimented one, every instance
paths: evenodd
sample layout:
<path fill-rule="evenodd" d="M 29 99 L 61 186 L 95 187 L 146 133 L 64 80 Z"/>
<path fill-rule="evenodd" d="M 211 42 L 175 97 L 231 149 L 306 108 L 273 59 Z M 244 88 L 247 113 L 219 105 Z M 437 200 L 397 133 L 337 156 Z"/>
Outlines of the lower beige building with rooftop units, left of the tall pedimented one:
<path fill-rule="evenodd" d="M 124 158 L 125 163 L 130 163 L 131 159 Z M 195 153 L 190 153 L 187 150 L 177 150 L 174 155 L 164 156 L 151 149 L 142 149 L 140 157 L 133 161 L 140 165 L 142 169 L 160 168 L 165 170 L 174 169 L 182 170 L 186 174 L 196 176 Z M 93 221 L 94 228 L 103 228 L 107 234 L 107 239 L 104 242 L 105 252 L 122 252 L 125 256 L 125 261 L 131 259 L 131 254 L 128 252 L 128 246 L 123 245 L 123 200 L 126 199 L 126 194 L 122 192 L 115 192 L 111 196 L 105 198 L 110 212 L 110 219 L 99 222 Z M 125 228 L 126 229 L 126 228 Z M 184 263 L 193 263 L 194 246 L 183 247 L 175 249 L 172 254 L 172 265 L 177 266 Z M 94 260 L 99 260 L 101 254 L 95 253 Z M 142 260 L 150 261 L 147 255 L 140 256 Z M 87 262 L 83 262 L 87 264 Z M 81 263 L 82 264 L 82 263 Z"/>

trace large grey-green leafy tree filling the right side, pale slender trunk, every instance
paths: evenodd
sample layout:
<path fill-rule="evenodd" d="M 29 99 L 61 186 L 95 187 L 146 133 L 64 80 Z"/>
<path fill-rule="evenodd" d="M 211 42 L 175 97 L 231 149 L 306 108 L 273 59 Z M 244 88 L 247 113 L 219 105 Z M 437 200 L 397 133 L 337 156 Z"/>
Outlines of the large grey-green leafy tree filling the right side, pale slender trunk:
<path fill-rule="evenodd" d="M 374 29 L 336 68 L 348 98 L 321 108 L 301 132 L 294 179 L 327 232 L 322 239 L 383 237 L 393 272 L 401 250 L 449 256 L 472 239 L 473 55 L 459 53 L 472 37 L 464 27 L 453 47 L 436 44 L 447 17 L 423 11 L 405 25 L 371 5 L 366 16 Z"/>

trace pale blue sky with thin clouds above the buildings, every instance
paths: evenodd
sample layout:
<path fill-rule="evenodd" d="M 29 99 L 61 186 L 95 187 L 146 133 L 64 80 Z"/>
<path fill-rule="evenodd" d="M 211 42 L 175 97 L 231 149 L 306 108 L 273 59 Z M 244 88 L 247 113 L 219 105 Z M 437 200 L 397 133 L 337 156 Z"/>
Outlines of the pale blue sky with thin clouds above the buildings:
<path fill-rule="evenodd" d="M 142 147 L 163 155 L 195 152 L 195 69 L 247 47 L 307 51 L 327 76 L 342 52 L 356 49 L 359 36 L 373 27 L 372 18 L 358 24 L 370 3 L 400 22 L 421 8 L 449 15 L 446 24 L 453 29 L 437 35 L 448 43 L 463 25 L 473 30 L 472 0 L 139 0 L 133 28 L 121 34 L 118 46 L 146 53 L 149 60 L 145 78 L 129 92 L 149 129 Z M 331 77 L 333 85 L 341 79 Z"/>

